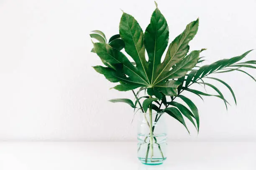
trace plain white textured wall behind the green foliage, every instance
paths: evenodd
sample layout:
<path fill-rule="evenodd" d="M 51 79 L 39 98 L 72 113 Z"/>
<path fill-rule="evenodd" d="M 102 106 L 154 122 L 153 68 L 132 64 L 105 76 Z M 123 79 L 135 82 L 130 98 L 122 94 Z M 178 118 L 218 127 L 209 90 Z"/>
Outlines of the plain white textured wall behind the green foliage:
<path fill-rule="evenodd" d="M 170 40 L 200 17 L 190 46 L 208 49 L 205 64 L 256 48 L 255 0 L 158 3 Z M 114 84 L 91 67 L 101 62 L 90 52 L 90 31 L 108 38 L 118 33 L 120 8 L 145 30 L 155 6 L 153 0 L 0 1 L 0 140 L 136 140 L 133 110 L 107 101 L 133 99 L 131 92 L 109 90 Z M 253 51 L 246 60 L 255 56 Z M 238 105 L 221 85 L 232 105 L 228 111 L 219 99 L 201 102 L 188 94 L 200 110 L 200 134 L 189 124 L 189 136 L 166 116 L 169 140 L 256 140 L 255 82 L 241 72 L 218 77 L 233 87 Z"/>

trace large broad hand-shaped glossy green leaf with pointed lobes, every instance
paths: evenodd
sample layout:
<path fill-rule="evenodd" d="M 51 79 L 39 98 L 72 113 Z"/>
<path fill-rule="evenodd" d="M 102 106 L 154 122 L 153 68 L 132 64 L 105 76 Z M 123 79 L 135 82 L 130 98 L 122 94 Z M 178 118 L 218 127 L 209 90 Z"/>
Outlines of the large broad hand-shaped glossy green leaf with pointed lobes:
<path fill-rule="evenodd" d="M 115 82 L 119 80 L 120 85 L 113 88 L 120 91 L 133 90 L 137 87 L 154 89 L 154 96 L 160 100 L 161 93 L 170 96 L 177 95 L 177 87 L 180 82 L 172 79 L 186 75 L 192 67 L 195 67 L 199 53 L 202 50 L 192 51 L 189 55 L 187 55 L 187 52 L 189 49 L 188 43 L 195 36 L 197 28 L 198 20 L 187 25 L 184 32 L 169 45 L 164 60 L 168 63 L 161 63 L 161 57 L 168 45 L 169 29 L 158 7 L 151 16 L 151 22 L 145 31 L 145 35 L 135 18 L 123 13 L 119 25 L 120 34 L 112 36 L 109 45 L 94 43 L 92 51 L 97 53 L 107 67 L 118 72 L 115 74 L 111 72 L 111 76 L 101 72 L 105 77 L 119 75 L 115 78 Z M 118 44 L 118 46 L 116 47 L 115 44 Z M 135 61 L 135 65 L 120 52 L 123 46 L 125 52 Z M 145 57 L 145 47 L 148 53 L 148 61 Z M 118 64 L 122 66 L 120 67 Z M 122 74 L 123 76 L 120 76 Z"/>

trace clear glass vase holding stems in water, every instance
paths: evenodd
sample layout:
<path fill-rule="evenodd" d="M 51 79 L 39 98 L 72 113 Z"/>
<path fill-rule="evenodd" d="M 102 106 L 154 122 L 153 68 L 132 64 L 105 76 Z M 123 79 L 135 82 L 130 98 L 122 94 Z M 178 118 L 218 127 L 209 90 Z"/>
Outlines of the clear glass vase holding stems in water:
<path fill-rule="evenodd" d="M 166 160 L 166 124 L 163 114 L 154 112 L 154 110 L 152 110 L 152 114 L 139 113 L 138 159 L 143 164 L 160 165 Z M 150 127 L 151 125 L 152 127 Z M 152 135 L 150 135 L 151 128 Z"/>

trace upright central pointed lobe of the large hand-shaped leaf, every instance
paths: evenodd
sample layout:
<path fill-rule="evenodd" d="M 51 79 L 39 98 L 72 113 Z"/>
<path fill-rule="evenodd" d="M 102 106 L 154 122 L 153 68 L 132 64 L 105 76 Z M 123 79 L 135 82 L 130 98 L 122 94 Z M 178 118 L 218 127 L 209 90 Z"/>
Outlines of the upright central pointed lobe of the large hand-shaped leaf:
<path fill-rule="evenodd" d="M 160 10 L 156 8 L 151 16 L 150 24 L 146 28 L 144 44 L 148 52 L 148 62 L 151 70 L 148 72 L 150 83 L 156 79 L 157 66 L 161 63 L 161 57 L 168 45 L 169 28 Z"/>

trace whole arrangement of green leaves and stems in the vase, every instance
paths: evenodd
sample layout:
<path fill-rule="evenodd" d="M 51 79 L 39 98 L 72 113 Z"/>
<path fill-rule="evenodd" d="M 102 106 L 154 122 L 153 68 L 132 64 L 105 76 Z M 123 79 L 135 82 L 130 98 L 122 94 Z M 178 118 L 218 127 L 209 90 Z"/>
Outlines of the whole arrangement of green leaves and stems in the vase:
<path fill-rule="evenodd" d="M 251 52 L 249 50 L 240 56 L 219 60 L 200 67 L 198 64 L 205 60 L 199 56 L 206 49 L 194 50 L 188 54 L 189 41 L 196 35 L 198 25 L 199 19 L 187 25 L 185 30 L 170 43 L 163 62 L 161 62 L 161 58 L 168 46 L 169 29 L 157 4 L 145 33 L 143 33 L 133 16 L 124 12 L 120 20 L 119 35 L 111 37 L 109 43 L 106 43 L 103 32 L 94 31 L 96 34 L 91 34 L 91 37 L 99 42 L 93 42 L 92 52 L 97 53 L 106 67 L 95 66 L 93 68 L 103 74 L 110 82 L 119 82 L 120 84 L 113 87 L 114 89 L 119 91 L 132 90 L 136 98 L 134 103 L 130 99 L 113 99 L 110 102 L 125 102 L 133 107 L 134 111 L 137 107 L 142 112 L 149 110 L 150 115 L 152 115 L 152 110 L 166 112 L 182 123 L 188 132 L 184 117 L 192 122 L 198 132 L 200 121 L 196 105 L 189 98 L 182 95 L 183 91 L 192 92 L 200 98 L 202 98 L 202 95 L 218 97 L 223 100 L 227 108 L 228 101 L 224 98 L 222 92 L 214 85 L 205 82 L 205 80 L 212 79 L 225 85 L 236 102 L 231 87 L 223 80 L 210 77 L 210 75 L 231 71 L 239 71 L 249 75 L 241 69 L 244 67 L 255 69 L 256 67 L 253 65 L 256 64 L 256 60 L 240 62 Z M 128 60 L 124 53 L 120 51 L 123 47 L 134 62 Z M 146 60 L 145 51 L 147 51 L 148 60 Z M 249 76 L 253 78 L 251 75 Z M 253 80 L 256 81 L 254 78 Z M 191 85 L 195 83 L 209 86 L 217 94 L 212 95 L 192 89 Z M 137 88 L 138 91 L 135 92 L 134 90 Z M 141 97 L 140 94 L 144 90 L 147 91 L 148 95 Z M 177 97 L 182 99 L 188 107 L 175 101 Z M 156 117 L 154 121 L 157 122 L 159 118 Z M 151 147 L 152 158 L 154 154 L 152 149 L 154 140 L 152 116 L 148 121 L 148 126 L 150 128 L 150 146 L 148 147 Z M 160 147 L 159 149 L 161 150 Z"/>

